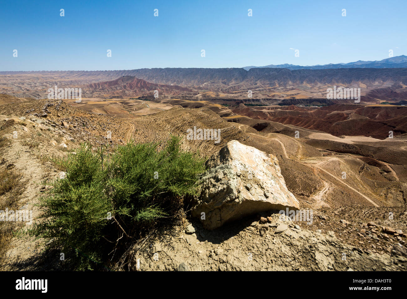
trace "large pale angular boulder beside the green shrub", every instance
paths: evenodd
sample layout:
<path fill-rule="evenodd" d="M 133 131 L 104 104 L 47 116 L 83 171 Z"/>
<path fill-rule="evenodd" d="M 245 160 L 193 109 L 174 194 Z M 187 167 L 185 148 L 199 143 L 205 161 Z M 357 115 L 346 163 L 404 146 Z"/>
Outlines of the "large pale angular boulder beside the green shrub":
<path fill-rule="evenodd" d="M 210 157 L 206 167 L 192 212 L 206 229 L 258 212 L 299 209 L 274 155 L 232 140 Z"/>

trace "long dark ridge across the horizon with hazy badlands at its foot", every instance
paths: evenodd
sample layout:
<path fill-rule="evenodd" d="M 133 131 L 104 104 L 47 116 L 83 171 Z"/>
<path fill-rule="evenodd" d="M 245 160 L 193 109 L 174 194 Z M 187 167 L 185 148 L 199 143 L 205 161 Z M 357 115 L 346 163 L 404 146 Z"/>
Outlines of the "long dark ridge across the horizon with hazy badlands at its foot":
<path fill-rule="evenodd" d="M 85 94 L 129 96 L 123 76 L 135 76 L 153 84 L 184 90 L 197 99 L 208 97 L 276 98 L 279 100 L 325 98 L 335 85 L 360 88 L 361 103 L 398 103 L 405 98 L 407 68 L 339 68 L 326 70 L 289 70 L 287 68 L 151 68 L 114 71 L 0 72 L 0 92 L 19 97 L 44 98 L 48 88 L 80 87 Z M 106 83 L 112 81 L 116 83 Z M 105 82 L 102 85 L 90 83 Z M 162 86 L 163 87 L 163 86 Z M 94 90 L 95 89 L 95 90 Z M 375 91 L 379 89 L 378 91 Z M 147 89 L 149 90 L 149 89 Z M 192 90 L 192 92 L 187 92 Z M 140 91 L 140 90 L 139 90 Z M 171 94 L 169 92 L 168 94 Z M 145 92 L 152 96 L 152 92 Z M 335 99 L 334 103 L 353 103 L 353 99 Z M 284 105 L 291 105 L 284 103 Z"/>

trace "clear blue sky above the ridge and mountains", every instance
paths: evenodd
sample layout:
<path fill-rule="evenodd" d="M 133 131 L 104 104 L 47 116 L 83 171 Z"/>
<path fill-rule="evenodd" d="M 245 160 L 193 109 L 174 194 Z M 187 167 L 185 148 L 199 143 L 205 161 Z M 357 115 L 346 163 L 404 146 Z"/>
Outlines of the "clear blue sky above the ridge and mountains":
<path fill-rule="evenodd" d="M 4 0 L 0 70 L 240 68 L 381 60 L 389 57 L 389 49 L 394 56 L 407 55 L 406 12 L 406 0 Z"/>

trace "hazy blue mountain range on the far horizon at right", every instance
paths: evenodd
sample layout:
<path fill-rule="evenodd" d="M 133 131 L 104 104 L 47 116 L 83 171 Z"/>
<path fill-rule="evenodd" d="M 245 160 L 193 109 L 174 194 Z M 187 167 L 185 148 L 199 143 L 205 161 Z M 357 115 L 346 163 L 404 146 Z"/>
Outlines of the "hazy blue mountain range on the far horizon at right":
<path fill-rule="evenodd" d="M 358 60 L 355 62 L 348 63 L 329 63 L 324 65 L 294 65 L 294 64 L 269 64 L 265 66 L 245 66 L 245 70 L 250 70 L 251 68 L 288 68 L 289 70 L 326 70 L 331 68 L 407 68 L 407 56 L 400 55 L 395 57 L 390 57 L 382 60 L 375 61 L 363 61 Z"/>

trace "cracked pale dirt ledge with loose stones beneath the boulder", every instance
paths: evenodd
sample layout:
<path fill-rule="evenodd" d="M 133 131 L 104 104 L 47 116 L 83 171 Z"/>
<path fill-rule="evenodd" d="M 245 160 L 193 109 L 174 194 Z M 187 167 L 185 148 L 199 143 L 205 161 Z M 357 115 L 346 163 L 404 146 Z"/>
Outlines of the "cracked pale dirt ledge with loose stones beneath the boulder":
<path fill-rule="evenodd" d="M 266 214 L 266 213 L 265 213 Z M 264 215 L 266 216 L 266 215 Z M 129 258 L 133 271 L 406 271 L 405 247 L 396 244 L 392 254 L 344 244 L 334 231 L 310 231 L 290 218 L 270 214 L 269 223 L 256 217 L 233 227 L 204 230 L 194 223 L 196 234 L 181 228 L 171 236 L 151 238 L 134 245 Z M 258 219 L 258 218 L 257 218 Z M 253 221 L 254 220 L 254 221 Z M 339 223 L 339 221 L 336 221 Z M 356 225 L 356 223 L 353 223 Z M 330 227 L 331 228 L 331 227 Z M 226 237 L 225 236 L 229 236 Z M 232 236 L 232 237 L 230 237 Z M 367 242 L 366 242 L 367 243 Z M 359 243 L 360 244 L 360 243 Z M 370 245 L 371 246 L 371 245 Z M 372 248 L 372 247 L 370 247 Z"/>

